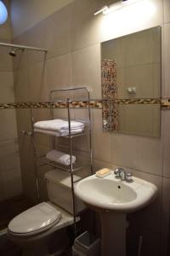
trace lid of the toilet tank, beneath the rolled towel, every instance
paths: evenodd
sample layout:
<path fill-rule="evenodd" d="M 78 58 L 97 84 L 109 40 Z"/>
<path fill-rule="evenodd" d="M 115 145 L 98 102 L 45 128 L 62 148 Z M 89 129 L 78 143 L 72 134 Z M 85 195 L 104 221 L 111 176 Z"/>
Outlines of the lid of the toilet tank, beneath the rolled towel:
<path fill-rule="evenodd" d="M 71 173 L 70 172 L 65 172 L 59 169 L 54 169 L 49 172 L 46 172 L 45 178 L 49 182 L 53 183 L 59 183 L 60 185 L 64 185 L 68 188 L 71 188 Z M 73 175 L 73 180 L 78 181 L 81 179 L 81 177 L 77 175 Z"/>

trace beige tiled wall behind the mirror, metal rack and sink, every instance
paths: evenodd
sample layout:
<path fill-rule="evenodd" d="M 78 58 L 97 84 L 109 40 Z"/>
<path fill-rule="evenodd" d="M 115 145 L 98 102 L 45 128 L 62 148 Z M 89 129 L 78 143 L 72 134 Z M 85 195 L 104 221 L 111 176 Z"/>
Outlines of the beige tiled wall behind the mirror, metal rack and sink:
<path fill-rule="evenodd" d="M 107 3 L 106 0 L 75 0 L 14 38 L 14 43 L 48 48 L 46 60 L 42 53 L 28 51 L 14 59 L 17 102 L 45 101 L 49 90 L 80 84 L 91 89 L 93 98 L 100 98 L 100 42 L 152 26 L 162 27 L 161 88 L 162 96 L 170 97 L 170 1 L 141 0 L 119 9 L 113 15 L 94 17 L 94 10 L 99 9 L 104 2 Z M 29 15 L 28 9 L 26 12 Z M 37 117 L 38 114 L 41 118 L 43 114 L 48 116 L 48 110 L 39 110 Z M 134 175 L 158 187 L 154 204 L 129 215 L 131 241 L 138 244 L 139 236 L 142 235 L 141 255 L 167 255 L 170 111 L 161 110 L 160 138 L 105 133 L 102 131 L 101 109 L 93 109 L 92 115 L 95 164 L 133 169 Z M 31 127 L 29 117 L 29 109 L 17 110 L 24 190 L 32 199 L 36 199 L 31 140 L 20 136 L 20 130 L 29 130 Z M 47 144 L 47 140 L 40 141 L 42 146 Z M 44 199 L 42 172 L 39 176 L 41 197 Z"/>

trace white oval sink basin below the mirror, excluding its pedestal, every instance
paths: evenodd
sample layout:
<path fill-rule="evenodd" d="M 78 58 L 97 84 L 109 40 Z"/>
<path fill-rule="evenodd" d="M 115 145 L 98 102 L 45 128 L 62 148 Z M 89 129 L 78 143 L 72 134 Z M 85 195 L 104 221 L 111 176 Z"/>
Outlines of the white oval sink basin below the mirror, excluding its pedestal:
<path fill-rule="evenodd" d="M 127 183 L 117 179 L 113 172 L 107 177 L 95 175 L 77 183 L 76 195 L 97 210 L 134 212 L 145 207 L 156 197 L 157 188 L 138 177 Z"/>

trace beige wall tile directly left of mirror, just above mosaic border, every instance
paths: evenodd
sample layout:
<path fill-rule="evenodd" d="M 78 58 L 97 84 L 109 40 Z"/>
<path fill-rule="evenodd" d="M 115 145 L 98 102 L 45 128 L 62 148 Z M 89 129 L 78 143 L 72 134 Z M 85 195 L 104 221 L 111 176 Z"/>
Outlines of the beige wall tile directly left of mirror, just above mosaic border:
<path fill-rule="evenodd" d="M 87 86 L 92 98 L 101 98 L 99 44 L 72 53 L 72 73 L 75 86 Z"/>

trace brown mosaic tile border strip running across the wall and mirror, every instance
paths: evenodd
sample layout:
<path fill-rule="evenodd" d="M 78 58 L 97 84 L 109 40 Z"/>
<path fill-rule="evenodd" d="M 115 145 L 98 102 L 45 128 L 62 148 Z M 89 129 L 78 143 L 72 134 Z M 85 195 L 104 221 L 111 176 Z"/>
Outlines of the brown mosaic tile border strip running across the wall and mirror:
<path fill-rule="evenodd" d="M 106 100 L 103 100 L 104 102 Z M 102 100 L 88 101 L 73 101 L 71 108 L 102 108 Z M 119 104 L 161 104 L 162 109 L 170 108 L 169 99 L 120 99 L 111 101 Z M 0 109 L 8 108 L 66 108 L 67 102 L 15 102 L 15 103 L 0 103 Z"/>

